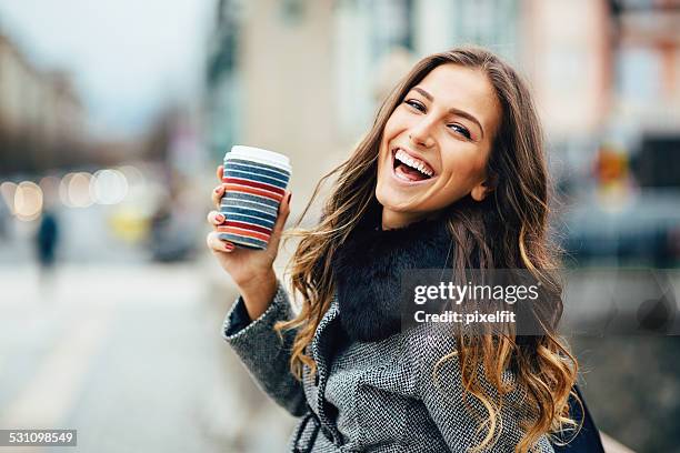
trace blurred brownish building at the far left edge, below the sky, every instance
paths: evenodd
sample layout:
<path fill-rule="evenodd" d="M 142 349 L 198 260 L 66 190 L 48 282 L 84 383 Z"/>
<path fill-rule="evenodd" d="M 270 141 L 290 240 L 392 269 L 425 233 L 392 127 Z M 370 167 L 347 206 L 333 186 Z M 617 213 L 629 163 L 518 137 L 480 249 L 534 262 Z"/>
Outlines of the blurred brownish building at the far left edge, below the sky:
<path fill-rule="evenodd" d="M 0 34 L 0 171 L 77 160 L 83 134 L 84 110 L 69 76 L 38 69 Z"/>

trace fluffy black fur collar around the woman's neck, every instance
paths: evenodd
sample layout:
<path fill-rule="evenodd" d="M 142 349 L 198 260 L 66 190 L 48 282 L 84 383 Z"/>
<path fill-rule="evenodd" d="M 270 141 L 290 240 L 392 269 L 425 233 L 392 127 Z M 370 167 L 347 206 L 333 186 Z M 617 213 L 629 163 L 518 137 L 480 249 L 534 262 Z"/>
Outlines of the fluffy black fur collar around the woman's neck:
<path fill-rule="evenodd" d="M 401 272 L 451 268 L 451 236 L 441 219 L 382 230 L 374 200 L 333 258 L 340 322 L 351 340 L 378 341 L 401 329 Z"/>

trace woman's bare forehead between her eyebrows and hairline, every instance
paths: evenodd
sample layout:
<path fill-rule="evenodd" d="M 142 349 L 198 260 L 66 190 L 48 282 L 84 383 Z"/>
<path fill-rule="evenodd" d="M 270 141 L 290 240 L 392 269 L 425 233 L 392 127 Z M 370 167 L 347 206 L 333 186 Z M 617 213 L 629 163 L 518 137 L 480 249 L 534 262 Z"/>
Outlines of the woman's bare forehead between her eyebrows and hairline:
<path fill-rule="evenodd" d="M 453 63 L 441 64 L 417 84 L 428 91 L 434 103 L 474 115 L 486 130 L 500 120 L 500 104 L 487 74 Z"/>

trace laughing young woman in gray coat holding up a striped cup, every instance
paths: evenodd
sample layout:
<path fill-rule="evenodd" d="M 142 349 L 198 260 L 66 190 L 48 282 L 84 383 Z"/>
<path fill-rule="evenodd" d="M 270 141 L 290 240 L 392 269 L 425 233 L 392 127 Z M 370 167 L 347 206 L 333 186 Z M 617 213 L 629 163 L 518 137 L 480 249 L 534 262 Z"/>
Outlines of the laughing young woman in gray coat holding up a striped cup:
<path fill-rule="evenodd" d="M 554 451 L 553 434 L 581 424 L 570 411 L 577 362 L 557 320 L 540 335 L 432 336 L 401 329 L 398 300 L 410 269 L 524 269 L 553 295 L 543 309 L 561 313 L 559 281 L 542 272 L 557 256 L 524 82 L 482 49 L 427 57 L 319 184 L 333 174 L 320 223 L 291 233 L 301 235 L 297 315 L 272 270 L 290 193 L 264 251 L 221 241 L 224 217 L 208 214 L 208 245 L 241 294 L 223 336 L 261 389 L 302 416 L 290 451 Z"/>

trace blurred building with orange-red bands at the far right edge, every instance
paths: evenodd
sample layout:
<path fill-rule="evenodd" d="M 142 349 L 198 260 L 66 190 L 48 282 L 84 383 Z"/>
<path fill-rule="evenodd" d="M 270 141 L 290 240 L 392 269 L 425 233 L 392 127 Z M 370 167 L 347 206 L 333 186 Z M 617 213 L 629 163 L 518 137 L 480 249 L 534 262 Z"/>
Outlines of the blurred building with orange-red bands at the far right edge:
<path fill-rule="evenodd" d="M 612 0 L 614 102 L 610 121 L 634 152 L 642 187 L 680 189 L 680 2 Z"/>

